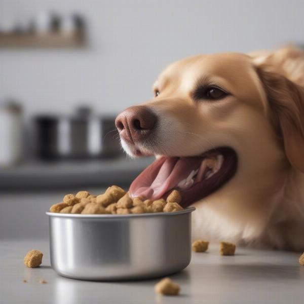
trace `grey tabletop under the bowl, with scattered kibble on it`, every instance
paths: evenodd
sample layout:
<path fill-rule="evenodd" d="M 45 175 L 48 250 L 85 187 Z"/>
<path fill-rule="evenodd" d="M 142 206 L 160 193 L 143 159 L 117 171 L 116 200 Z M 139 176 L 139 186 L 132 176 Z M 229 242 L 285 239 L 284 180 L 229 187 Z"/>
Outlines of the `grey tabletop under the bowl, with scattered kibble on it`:
<path fill-rule="evenodd" d="M 159 280 L 89 282 L 60 277 L 50 266 L 47 240 L 0 241 L 0 303 L 303 303 L 304 267 L 298 253 L 237 248 L 220 256 L 218 244 L 193 253 L 182 272 L 170 276 L 181 287 L 179 296 L 154 292 Z M 40 268 L 28 269 L 28 250 L 44 253 Z M 23 280 L 27 282 L 24 283 Z M 42 284 L 40 280 L 47 283 Z"/>

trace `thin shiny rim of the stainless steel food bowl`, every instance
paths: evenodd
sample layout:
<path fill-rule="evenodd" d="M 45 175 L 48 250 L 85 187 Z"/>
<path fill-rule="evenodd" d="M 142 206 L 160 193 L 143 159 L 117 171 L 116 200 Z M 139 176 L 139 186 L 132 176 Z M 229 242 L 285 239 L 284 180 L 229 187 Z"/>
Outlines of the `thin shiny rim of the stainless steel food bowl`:
<path fill-rule="evenodd" d="M 104 219 L 113 219 L 113 218 L 134 218 L 134 217 L 166 217 L 174 216 L 179 214 L 185 214 L 195 211 L 195 207 L 187 207 L 180 211 L 174 212 L 155 212 L 155 213 L 140 213 L 140 214 L 71 214 L 71 213 L 57 213 L 49 212 L 46 214 L 54 217 L 64 217 L 64 218 L 104 218 Z"/>

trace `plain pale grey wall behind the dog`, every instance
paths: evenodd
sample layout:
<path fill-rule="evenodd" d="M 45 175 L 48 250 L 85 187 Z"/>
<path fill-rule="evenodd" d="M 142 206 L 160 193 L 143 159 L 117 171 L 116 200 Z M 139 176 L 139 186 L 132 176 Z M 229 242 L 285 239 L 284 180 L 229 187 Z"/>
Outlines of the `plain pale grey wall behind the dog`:
<path fill-rule="evenodd" d="M 0 50 L 0 98 L 19 98 L 28 115 L 81 101 L 115 113 L 149 98 L 157 74 L 179 58 L 304 40 L 300 0 L 0 0 L 0 20 L 44 9 L 81 12 L 89 46 Z"/>

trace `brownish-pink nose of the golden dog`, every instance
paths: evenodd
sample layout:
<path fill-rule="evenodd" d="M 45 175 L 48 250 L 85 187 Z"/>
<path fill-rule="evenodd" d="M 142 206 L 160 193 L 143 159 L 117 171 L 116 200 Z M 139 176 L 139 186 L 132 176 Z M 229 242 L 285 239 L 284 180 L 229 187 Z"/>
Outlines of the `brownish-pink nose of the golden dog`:
<path fill-rule="evenodd" d="M 115 120 L 120 135 L 127 141 L 140 141 L 154 128 L 157 116 L 146 106 L 128 107 Z"/>

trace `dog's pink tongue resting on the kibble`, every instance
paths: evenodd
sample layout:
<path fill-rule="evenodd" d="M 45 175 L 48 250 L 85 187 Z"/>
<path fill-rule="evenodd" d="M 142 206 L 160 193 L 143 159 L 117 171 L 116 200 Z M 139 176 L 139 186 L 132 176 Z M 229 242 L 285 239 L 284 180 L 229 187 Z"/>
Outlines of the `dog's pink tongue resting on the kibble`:
<path fill-rule="evenodd" d="M 130 194 L 132 197 L 160 199 L 193 170 L 197 170 L 201 162 L 199 157 L 162 157 L 135 178 L 130 186 Z"/>

